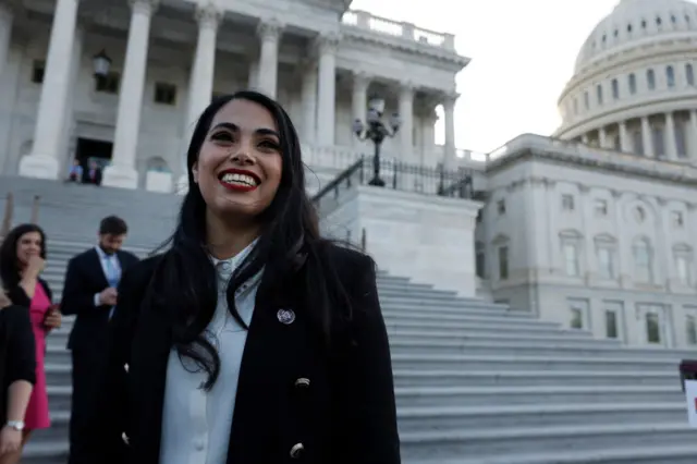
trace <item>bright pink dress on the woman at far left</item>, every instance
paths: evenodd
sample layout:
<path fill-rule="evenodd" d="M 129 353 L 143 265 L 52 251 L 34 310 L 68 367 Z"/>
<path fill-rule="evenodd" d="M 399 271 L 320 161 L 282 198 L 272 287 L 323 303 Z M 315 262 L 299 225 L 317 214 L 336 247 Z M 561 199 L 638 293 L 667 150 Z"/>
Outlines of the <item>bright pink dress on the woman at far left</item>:
<path fill-rule="evenodd" d="M 29 404 L 26 407 L 26 414 L 24 416 L 25 426 L 29 430 L 48 428 L 51 425 L 48 415 L 46 370 L 44 368 L 46 334 L 48 333 L 48 330 L 44 326 L 44 318 L 50 307 L 51 302 L 46 295 L 44 285 L 37 283 L 32 304 L 29 305 L 29 317 L 32 318 L 32 328 L 34 329 L 34 338 L 36 339 L 36 384 L 32 391 Z"/>

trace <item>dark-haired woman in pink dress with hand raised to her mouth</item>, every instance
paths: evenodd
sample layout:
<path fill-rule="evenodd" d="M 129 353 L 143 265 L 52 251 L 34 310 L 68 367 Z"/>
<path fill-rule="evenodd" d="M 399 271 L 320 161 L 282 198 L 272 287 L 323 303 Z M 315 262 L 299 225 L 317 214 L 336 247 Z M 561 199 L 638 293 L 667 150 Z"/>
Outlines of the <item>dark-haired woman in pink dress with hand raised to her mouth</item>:
<path fill-rule="evenodd" d="M 23 445 L 32 430 L 51 425 L 46 392 L 46 335 L 60 327 L 60 312 L 51 305 L 51 290 L 39 278 L 46 259 L 46 235 L 36 224 L 22 224 L 4 237 L 0 246 L 0 277 L 15 305 L 28 308 L 36 340 L 36 384 L 26 408 L 24 424 L 5 424 L 23 432 Z M 17 454 L 17 460 L 21 452 Z"/>

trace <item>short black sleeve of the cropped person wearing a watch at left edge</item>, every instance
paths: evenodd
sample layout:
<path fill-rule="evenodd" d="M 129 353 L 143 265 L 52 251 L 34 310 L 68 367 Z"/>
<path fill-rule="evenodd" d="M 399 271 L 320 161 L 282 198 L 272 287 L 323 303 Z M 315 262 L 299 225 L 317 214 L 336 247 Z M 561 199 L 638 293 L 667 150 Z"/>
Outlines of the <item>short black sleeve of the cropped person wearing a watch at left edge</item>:
<path fill-rule="evenodd" d="M 7 312 L 9 340 L 5 378 L 8 384 L 17 380 L 36 383 L 36 344 L 29 312 L 24 306 L 9 306 Z"/>

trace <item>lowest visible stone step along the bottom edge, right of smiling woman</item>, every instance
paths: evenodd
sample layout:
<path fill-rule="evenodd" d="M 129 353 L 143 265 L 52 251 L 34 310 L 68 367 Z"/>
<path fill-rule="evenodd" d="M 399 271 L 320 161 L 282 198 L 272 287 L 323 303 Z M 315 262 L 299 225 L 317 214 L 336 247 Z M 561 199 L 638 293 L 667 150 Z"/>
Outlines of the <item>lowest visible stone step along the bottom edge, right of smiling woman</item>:
<path fill-rule="evenodd" d="M 512 453 L 454 460 L 409 460 L 405 464 L 695 464 L 697 444 L 662 444 L 612 450 L 564 450 L 562 452 Z"/>

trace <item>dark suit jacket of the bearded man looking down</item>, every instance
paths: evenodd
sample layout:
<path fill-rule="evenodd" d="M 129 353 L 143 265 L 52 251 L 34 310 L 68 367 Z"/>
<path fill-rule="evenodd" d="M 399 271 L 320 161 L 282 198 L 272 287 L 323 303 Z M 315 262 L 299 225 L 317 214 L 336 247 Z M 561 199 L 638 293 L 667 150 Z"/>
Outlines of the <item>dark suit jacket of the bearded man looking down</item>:
<path fill-rule="evenodd" d="M 138 258 L 129 252 L 117 252 L 122 276 Z M 69 350 L 95 350 L 106 346 L 111 306 L 95 306 L 95 294 L 109 286 L 99 254 L 90 248 L 68 262 L 61 313 L 76 315 L 68 339 Z"/>

